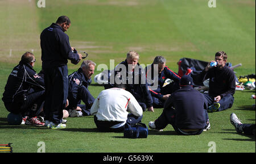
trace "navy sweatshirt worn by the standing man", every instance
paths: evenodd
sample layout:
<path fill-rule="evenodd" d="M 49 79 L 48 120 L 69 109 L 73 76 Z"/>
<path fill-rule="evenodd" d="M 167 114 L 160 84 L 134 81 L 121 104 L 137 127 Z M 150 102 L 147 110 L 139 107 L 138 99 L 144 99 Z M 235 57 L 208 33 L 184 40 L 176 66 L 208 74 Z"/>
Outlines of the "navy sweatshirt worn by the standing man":
<path fill-rule="evenodd" d="M 78 64 L 79 54 L 73 53 L 69 44 L 69 37 L 62 28 L 52 23 L 40 35 L 42 49 L 42 68 L 53 68 L 66 65 L 68 60 Z"/>

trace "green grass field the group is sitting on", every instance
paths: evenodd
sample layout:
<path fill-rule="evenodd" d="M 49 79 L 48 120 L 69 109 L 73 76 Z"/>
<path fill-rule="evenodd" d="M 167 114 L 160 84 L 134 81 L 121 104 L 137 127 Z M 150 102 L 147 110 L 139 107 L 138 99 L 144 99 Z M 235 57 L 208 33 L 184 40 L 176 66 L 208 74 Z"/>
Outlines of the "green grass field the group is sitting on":
<path fill-rule="evenodd" d="M 216 0 L 209 8 L 206 0 L 46 0 L 39 8 L 35 0 L 0 1 L 0 95 L 7 78 L 21 55 L 33 51 L 35 70 L 40 71 L 40 32 L 60 15 L 71 19 L 67 34 L 72 47 L 89 53 L 88 59 L 99 64 L 115 65 L 125 60 L 133 49 L 140 54 L 140 64 L 151 64 L 163 55 L 167 66 L 177 72 L 180 58 L 214 59 L 225 51 L 237 77 L 255 74 L 255 1 Z M 68 64 L 69 74 L 79 65 Z M 97 66 L 96 66 L 97 68 Z M 95 74 L 100 73 L 97 70 Z M 93 81 L 94 83 L 94 81 Z M 96 97 L 104 87 L 92 85 Z M 255 136 L 237 134 L 230 124 L 234 112 L 242 123 L 255 124 L 255 90 L 236 91 L 233 107 L 209 113 L 211 129 L 198 136 L 179 136 L 171 125 L 163 132 L 149 131 L 147 138 L 127 139 L 123 133 L 97 132 L 92 116 L 71 118 L 67 128 L 54 131 L 26 125 L 9 125 L 8 112 L 0 101 L 0 144 L 13 143 L 14 152 L 38 152 L 38 142 L 46 152 L 202 152 L 216 143 L 216 152 L 254 152 Z M 158 118 L 162 109 L 144 112 L 142 122 Z"/>

